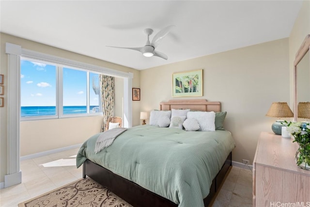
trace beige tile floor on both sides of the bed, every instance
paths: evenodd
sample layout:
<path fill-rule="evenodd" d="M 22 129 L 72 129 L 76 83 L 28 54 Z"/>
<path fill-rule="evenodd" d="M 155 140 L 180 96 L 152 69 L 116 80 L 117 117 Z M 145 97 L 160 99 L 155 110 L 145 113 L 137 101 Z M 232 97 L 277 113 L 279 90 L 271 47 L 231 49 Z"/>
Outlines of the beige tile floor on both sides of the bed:
<path fill-rule="evenodd" d="M 0 190 L 0 207 L 17 207 L 23 201 L 82 177 L 76 168 L 78 148 L 21 161 L 22 183 Z M 44 165 L 43 165 L 44 164 Z M 252 172 L 233 167 L 212 207 L 252 206 Z"/>

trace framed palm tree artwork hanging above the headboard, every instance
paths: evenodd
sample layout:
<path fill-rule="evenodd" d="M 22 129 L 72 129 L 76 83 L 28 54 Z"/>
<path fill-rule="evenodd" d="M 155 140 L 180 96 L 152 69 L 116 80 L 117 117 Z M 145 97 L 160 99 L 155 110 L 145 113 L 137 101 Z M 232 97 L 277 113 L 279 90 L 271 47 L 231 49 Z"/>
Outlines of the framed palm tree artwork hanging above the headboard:
<path fill-rule="evenodd" d="M 202 69 L 172 74 L 172 97 L 202 96 Z"/>

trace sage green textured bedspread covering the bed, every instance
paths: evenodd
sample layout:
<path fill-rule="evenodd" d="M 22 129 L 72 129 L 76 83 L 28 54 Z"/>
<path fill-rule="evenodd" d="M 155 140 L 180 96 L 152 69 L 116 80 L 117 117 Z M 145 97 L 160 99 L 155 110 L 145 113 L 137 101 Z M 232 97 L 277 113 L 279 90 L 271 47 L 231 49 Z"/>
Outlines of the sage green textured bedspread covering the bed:
<path fill-rule="evenodd" d="M 212 180 L 234 148 L 228 131 L 186 132 L 143 125 L 129 128 L 95 154 L 99 134 L 81 146 L 77 167 L 89 159 L 179 207 L 203 207 Z"/>

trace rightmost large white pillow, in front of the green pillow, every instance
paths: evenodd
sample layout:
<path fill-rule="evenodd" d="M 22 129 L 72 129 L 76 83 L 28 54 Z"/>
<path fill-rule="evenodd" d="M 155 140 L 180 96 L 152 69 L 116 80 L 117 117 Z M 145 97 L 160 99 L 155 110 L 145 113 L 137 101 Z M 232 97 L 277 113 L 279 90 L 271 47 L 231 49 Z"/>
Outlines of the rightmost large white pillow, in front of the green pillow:
<path fill-rule="evenodd" d="M 214 132 L 215 131 L 215 112 L 210 111 L 189 111 L 187 118 L 195 118 L 200 126 L 199 131 Z"/>

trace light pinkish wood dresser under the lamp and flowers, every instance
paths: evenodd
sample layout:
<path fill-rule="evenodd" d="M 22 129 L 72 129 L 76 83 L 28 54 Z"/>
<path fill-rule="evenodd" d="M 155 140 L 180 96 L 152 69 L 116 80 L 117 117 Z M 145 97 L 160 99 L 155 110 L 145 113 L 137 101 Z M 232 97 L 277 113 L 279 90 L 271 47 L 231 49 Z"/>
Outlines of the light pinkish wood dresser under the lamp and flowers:
<path fill-rule="evenodd" d="M 291 138 L 260 134 L 253 162 L 254 207 L 289 206 L 289 203 L 310 207 L 310 171 L 297 167 L 297 148 Z"/>

